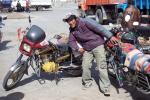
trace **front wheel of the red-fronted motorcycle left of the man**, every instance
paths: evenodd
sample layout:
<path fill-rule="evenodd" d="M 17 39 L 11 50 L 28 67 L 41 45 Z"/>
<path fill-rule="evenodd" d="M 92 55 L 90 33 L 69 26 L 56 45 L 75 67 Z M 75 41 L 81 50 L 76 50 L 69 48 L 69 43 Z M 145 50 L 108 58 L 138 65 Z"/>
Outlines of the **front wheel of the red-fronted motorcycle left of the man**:
<path fill-rule="evenodd" d="M 3 88 L 8 91 L 15 87 L 25 74 L 26 68 L 25 61 L 20 61 L 12 66 L 11 69 L 13 70 L 10 69 L 4 78 Z M 9 79 L 12 80 L 11 84 L 8 84 Z"/>

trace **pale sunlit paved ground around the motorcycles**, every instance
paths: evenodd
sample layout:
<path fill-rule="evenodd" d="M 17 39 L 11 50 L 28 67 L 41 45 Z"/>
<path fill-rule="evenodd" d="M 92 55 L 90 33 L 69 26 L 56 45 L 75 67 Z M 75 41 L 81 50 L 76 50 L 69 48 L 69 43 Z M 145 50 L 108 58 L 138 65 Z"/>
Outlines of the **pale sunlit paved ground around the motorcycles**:
<path fill-rule="evenodd" d="M 46 83 L 41 85 L 31 69 L 29 69 L 29 75 L 25 75 L 16 88 L 10 91 L 5 91 L 2 88 L 5 74 L 19 56 L 17 28 L 29 26 L 28 15 L 32 17 L 32 24 L 43 28 L 47 34 L 47 39 L 49 39 L 55 34 L 68 33 L 68 25 L 62 22 L 62 18 L 67 12 L 77 14 L 76 9 L 75 4 L 58 4 L 50 10 L 19 13 L 18 16 L 21 14 L 24 19 L 8 19 L 5 21 L 3 43 L 0 45 L 0 100 L 149 100 L 149 95 L 141 94 L 132 87 L 119 88 L 112 78 L 111 96 L 105 97 L 98 90 L 95 73 L 92 74 L 95 79 L 94 85 L 88 90 L 82 90 L 81 77 L 62 77 L 59 84 L 56 85 L 55 81 L 51 80 L 52 76 L 46 75 L 44 76 Z M 13 14 L 16 15 L 16 13 Z"/>

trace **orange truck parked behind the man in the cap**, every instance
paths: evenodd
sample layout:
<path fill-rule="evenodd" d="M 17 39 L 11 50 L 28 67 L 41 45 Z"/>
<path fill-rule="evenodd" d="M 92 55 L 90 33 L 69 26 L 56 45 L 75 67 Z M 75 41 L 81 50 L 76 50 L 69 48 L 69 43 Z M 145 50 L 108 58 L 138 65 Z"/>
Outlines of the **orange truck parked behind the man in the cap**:
<path fill-rule="evenodd" d="M 78 0 L 81 17 L 91 16 L 100 24 L 115 22 L 117 18 L 117 4 L 124 0 Z"/>

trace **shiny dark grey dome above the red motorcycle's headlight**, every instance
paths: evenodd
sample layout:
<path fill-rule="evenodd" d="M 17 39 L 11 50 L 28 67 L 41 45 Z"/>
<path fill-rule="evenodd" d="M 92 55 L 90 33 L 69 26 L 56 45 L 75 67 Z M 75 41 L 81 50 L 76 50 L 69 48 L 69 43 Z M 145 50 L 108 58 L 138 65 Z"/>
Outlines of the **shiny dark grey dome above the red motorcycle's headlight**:
<path fill-rule="evenodd" d="M 46 34 L 43 29 L 36 25 L 32 25 L 29 31 L 26 34 L 26 38 L 33 43 L 40 43 L 46 37 Z"/>

